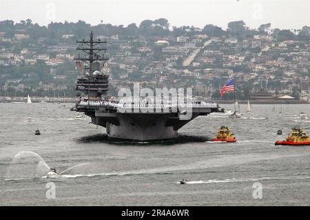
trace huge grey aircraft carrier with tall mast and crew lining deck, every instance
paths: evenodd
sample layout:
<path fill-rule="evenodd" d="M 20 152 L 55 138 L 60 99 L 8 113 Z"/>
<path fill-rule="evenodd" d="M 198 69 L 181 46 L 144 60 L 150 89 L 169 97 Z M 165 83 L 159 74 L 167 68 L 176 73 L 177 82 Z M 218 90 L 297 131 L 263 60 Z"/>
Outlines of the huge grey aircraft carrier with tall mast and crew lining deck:
<path fill-rule="evenodd" d="M 103 71 L 108 60 L 104 48 L 106 41 L 94 39 L 91 32 L 89 40 L 76 43 L 79 43 L 76 50 L 85 53 L 75 57 L 76 66 L 83 69 L 83 77 L 77 79 L 76 90 L 83 94 L 72 110 L 84 112 L 92 123 L 105 127 L 108 137 L 133 141 L 173 139 L 180 128 L 199 115 L 220 111 L 216 103 L 192 98 L 172 101 L 170 97 L 163 101 L 161 96 L 156 97 L 160 101 L 153 102 L 150 97 L 111 99 L 107 95 L 109 76 Z M 101 51 L 104 51 L 103 54 L 99 54 Z M 180 94 L 177 96 L 180 97 Z"/>

